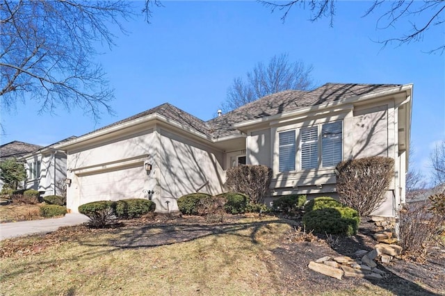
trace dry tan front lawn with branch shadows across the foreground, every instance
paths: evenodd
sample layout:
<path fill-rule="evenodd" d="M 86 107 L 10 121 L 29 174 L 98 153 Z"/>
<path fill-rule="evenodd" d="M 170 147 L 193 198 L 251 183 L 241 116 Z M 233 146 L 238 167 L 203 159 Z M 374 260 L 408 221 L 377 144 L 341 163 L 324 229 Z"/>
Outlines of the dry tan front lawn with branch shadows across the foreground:
<path fill-rule="evenodd" d="M 296 226 L 273 216 L 230 216 L 222 224 L 156 216 L 114 229 L 81 225 L 3 240 L 1 294 L 432 295 L 444 289 L 440 281 L 403 277 L 406 267 L 398 274 L 380 267 L 387 277 L 378 281 L 313 272 L 309 261 L 374 242 L 362 231 L 330 247 L 323 238 L 301 239 Z"/>

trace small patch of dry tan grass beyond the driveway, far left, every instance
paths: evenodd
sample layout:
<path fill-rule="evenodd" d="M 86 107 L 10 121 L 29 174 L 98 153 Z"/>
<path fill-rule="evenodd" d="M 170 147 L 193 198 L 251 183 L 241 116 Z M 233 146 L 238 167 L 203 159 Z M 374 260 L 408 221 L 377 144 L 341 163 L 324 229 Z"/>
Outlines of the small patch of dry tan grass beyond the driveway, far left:
<path fill-rule="evenodd" d="M 0 206 L 0 223 L 44 219 L 40 204 L 9 204 Z"/>

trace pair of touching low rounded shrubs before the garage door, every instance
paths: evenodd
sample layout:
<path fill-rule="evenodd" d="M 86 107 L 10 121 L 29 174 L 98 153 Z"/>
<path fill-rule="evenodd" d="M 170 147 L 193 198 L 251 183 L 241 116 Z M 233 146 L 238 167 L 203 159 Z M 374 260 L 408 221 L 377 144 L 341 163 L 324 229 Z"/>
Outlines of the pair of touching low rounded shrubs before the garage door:
<path fill-rule="evenodd" d="M 89 202 L 79 206 L 79 213 L 90 218 L 90 225 L 96 228 L 104 228 L 119 219 L 131 219 L 142 217 L 153 212 L 156 207 L 154 202 L 148 199 L 122 199 L 118 202 L 99 201 Z"/>

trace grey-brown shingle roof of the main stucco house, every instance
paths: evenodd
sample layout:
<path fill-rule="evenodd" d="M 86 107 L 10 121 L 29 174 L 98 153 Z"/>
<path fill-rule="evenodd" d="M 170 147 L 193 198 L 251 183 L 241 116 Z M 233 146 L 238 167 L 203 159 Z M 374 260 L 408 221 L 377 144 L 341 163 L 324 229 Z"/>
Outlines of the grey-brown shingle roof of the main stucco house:
<path fill-rule="evenodd" d="M 378 92 L 401 86 L 398 84 L 355 84 L 355 83 L 326 83 L 319 88 L 311 91 L 285 90 L 275 94 L 269 94 L 266 97 L 252 101 L 249 104 L 241 106 L 224 115 L 213 118 L 207 122 L 181 110 L 171 104 L 165 103 L 144 112 L 138 113 L 124 120 L 109 124 L 100 129 L 92 131 L 95 133 L 111 126 L 117 126 L 140 117 L 145 117 L 157 113 L 186 126 L 188 129 L 197 131 L 210 138 L 220 138 L 229 135 L 239 135 L 240 132 L 234 128 L 234 124 L 247 120 L 254 120 L 261 117 L 287 113 L 308 106 L 316 106 L 333 101 L 340 101 L 350 97 L 356 97 L 362 94 Z M 90 134 L 87 133 L 86 135 Z"/>

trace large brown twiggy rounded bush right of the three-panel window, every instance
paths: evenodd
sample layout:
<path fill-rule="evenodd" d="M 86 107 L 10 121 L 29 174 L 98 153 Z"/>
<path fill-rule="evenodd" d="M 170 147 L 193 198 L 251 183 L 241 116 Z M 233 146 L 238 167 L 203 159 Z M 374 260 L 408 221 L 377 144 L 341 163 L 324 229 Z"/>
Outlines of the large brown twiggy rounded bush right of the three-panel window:
<path fill-rule="evenodd" d="M 367 216 L 385 202 L 385 190 L 394 176 L 394 159 L 373 156 L 342 161 L 336 173 L 340 202 Z"/>

